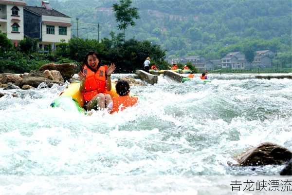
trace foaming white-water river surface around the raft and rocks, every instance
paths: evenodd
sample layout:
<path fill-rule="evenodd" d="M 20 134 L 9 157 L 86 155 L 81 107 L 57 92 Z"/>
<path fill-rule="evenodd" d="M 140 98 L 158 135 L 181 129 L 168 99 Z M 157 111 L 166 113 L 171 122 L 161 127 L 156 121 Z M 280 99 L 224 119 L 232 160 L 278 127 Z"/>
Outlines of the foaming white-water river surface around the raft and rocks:
<path fill-rule="evenodd" d="M 137 106 L 91 116 L 51 108 L 63 89 L 0 98 L 1 176 L 267 176 L 283 166 L 227 162 L 267 141 L 292 150 L 291 79 L 182 84 L 160 76 L 131 87 Z"/>

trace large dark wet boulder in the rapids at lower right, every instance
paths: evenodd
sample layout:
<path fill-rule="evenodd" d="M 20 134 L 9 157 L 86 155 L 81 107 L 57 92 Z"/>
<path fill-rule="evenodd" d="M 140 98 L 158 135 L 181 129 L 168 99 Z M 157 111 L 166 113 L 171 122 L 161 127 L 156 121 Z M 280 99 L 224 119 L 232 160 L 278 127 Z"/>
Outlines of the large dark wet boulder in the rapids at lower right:
<path fill-rule="evenodd" d="M 260 166 L 284 164 L 292 158 L 287 148 L 273 144 L 261 143 L 238 157 L 239 166 Z"/>

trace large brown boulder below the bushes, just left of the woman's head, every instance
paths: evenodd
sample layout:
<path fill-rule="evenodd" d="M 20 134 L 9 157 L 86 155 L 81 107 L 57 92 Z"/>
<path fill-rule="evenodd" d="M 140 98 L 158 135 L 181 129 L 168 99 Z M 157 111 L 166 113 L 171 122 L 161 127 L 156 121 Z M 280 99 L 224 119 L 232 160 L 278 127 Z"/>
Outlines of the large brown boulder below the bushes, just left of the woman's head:
<path fill-rule="evenodd" d="M 61 73 L 65 80 L 72 78 L 75 73 L 77 65 L 74 63 L 63 63 L 63 64 L 55 64 L 55 63 L 48 63 L 42 65 L 38 70 L 45 71 L 45 70 L 57 70 Z"/>

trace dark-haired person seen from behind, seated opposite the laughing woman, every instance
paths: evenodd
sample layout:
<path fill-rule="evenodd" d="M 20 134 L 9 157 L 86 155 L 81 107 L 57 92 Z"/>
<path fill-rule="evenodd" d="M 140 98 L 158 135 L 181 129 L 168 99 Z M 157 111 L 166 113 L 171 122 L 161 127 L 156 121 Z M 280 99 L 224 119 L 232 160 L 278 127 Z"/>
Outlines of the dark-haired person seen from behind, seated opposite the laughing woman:
<path fill-rule="evenodd" d="M 137 103 L 137 97 L 130 97 L 130 86 L 126 80 L 119 80 L 116 84 L 116 92 L 119 97 L 113 97 L 108 109 L 110 113 L 115 113 L 124 110 L 127 107 Z"/>

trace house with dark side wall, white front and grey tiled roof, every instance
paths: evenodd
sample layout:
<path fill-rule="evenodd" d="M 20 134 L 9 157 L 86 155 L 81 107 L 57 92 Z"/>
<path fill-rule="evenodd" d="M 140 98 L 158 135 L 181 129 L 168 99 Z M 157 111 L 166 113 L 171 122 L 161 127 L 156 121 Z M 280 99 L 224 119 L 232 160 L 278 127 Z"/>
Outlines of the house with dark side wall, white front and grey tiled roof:
<path fill-rule="evenodd" d="M 24 35 L 38 39 L 40 50 L 48 50 L 49 45 L 55 50 L 61 40 L 71 39 L 71 18 L 58 12 L 48 1 L 42 6 L 24 6 Z"/>

